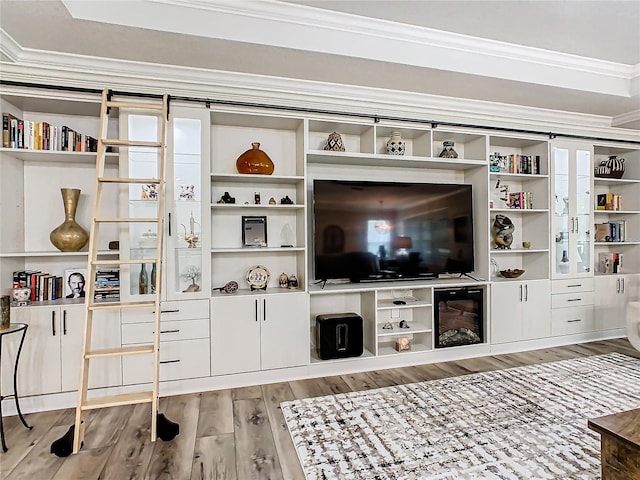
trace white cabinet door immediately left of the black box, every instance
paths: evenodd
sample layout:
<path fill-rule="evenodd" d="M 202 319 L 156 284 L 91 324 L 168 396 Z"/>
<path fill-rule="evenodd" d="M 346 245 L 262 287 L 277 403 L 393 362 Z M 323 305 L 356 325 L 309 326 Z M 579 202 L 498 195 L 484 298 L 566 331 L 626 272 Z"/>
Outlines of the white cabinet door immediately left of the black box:
<path fill-rule="evenodd" d="M 262 298 L 261 368 L 309 363 L 309 296 L 305 293 Z"/>

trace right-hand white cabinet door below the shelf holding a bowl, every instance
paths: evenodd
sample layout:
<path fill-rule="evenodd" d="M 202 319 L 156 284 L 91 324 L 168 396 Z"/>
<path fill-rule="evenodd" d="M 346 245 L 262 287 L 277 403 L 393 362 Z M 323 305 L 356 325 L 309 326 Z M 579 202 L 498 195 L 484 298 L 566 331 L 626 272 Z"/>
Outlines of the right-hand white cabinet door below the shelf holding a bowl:
<path fill-rule="evenodd" d="M 548 280 L 524 284 L 522 303 L 522 339 L 551 336 L 551 285 Z"/>

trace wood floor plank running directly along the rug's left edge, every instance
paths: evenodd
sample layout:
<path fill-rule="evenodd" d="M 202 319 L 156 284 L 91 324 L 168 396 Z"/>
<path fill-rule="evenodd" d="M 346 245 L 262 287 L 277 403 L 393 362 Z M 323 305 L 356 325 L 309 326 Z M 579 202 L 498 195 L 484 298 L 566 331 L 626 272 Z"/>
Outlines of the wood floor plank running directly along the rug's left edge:
<path fill-rule="evenodd" d="M 295 400 L 295 395 L 287 383 L 263 385 L 262 392 L 282 474 L 287 480 L 304 480 L 304 473 L 280 407 L 282 402 Z"/>

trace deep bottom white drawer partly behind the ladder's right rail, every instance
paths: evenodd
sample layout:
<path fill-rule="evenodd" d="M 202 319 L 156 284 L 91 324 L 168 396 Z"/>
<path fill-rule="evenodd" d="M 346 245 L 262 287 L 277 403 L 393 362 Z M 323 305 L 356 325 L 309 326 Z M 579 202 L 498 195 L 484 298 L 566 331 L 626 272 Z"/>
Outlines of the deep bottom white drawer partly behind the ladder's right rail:
<path fill-rule="evenodd" d="M 160 348 L 160 381 L 209 376 L 209 340 L 165 342 Z M 122 358 L 125 385 L 150 383 L 153 379 L 153 356 Z"/>

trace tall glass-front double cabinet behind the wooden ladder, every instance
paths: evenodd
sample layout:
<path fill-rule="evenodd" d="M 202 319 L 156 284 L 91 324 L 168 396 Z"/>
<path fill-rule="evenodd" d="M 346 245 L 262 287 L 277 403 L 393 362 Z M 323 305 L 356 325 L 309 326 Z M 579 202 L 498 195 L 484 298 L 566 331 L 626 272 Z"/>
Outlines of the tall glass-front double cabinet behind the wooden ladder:
<path fill-rule="evenodd" d="M 121 290 L 125 296 L 143 299 L 153 294 L 157 278 L 162 282 L 163 300 L 208 297 L 209 263 L 203 262 L 203 250 L 208 252 L 210 247 L 202 232 L 208 231 L 208 217 L 203 215 L 203 209 L 209 206 L 209 191 L 203 186 L 203 179 L 208 180 L 205 169 L 209 163 L 206 134 L 209 124 L 202 112 L 201 109 L 172 108 L 165 138 L 164 200 L 160 201 L 154 184 L 127 187 L 128 216 L 154 218 L 158 208 L 163 210 L 165 268 L 161 272 L 156 264 L 142 262 L 142 259 L 156 258 L 157 225 L 152 222 L 129 224 L 120 236 L 120 254 L 141 262 L 121 267 Z M 153 114 L 125 113 L 121 123 L 126 128 L 126 138 L 144 141 L 161 138 L 162 123 Z M 129 147 L 121 160 L 121 171 L 129 177 L 158 178 L 157 149 Z"/>

